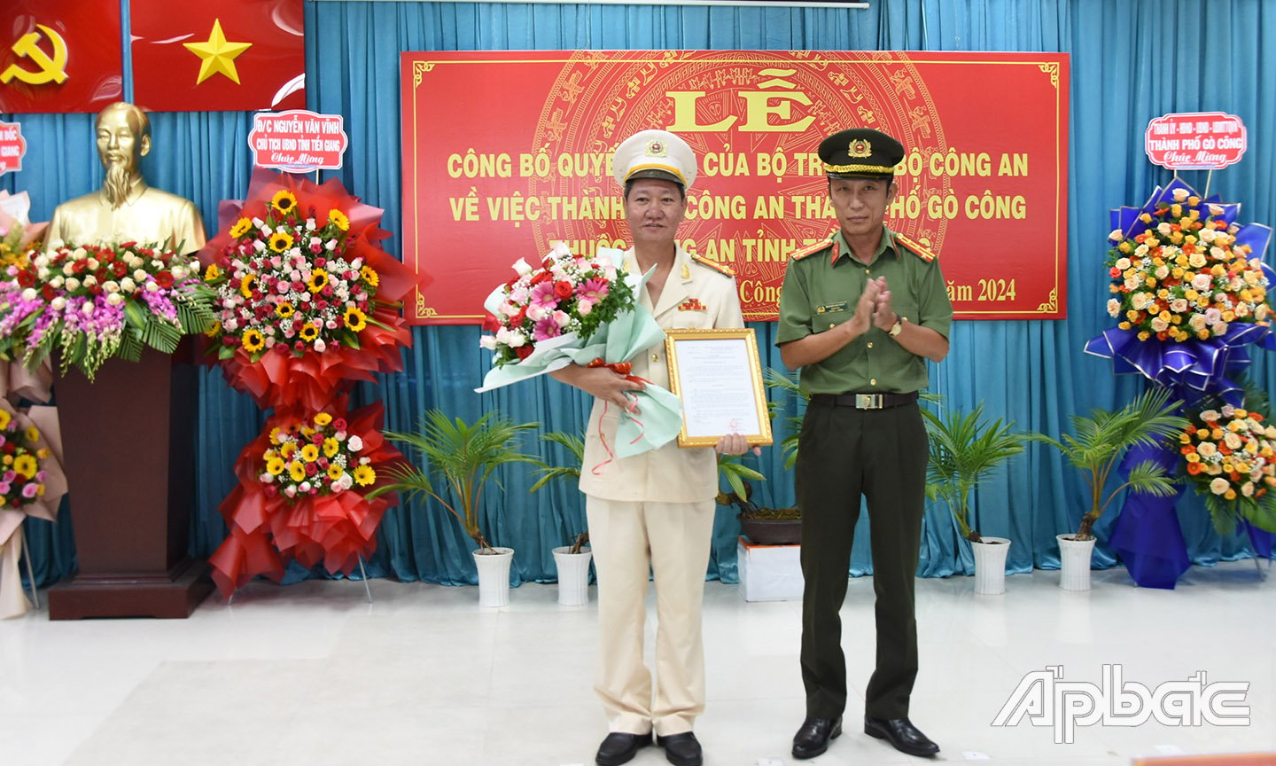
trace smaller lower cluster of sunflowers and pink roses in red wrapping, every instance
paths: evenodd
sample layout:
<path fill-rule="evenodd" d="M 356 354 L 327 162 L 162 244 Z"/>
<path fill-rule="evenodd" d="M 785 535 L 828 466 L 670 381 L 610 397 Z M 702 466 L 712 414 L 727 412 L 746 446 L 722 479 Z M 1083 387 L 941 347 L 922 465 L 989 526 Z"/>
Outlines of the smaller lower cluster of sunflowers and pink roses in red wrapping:
<path fill-rule="evenodd" d="M 306 421 L 271 429 L 271 447 L 262 453 L 265 497 L 282 494 L 295 503 L 376 481 L 371 458 L 360 454 L 367 444 L 347 428 L 345 417 L 319 412 Z"/>

